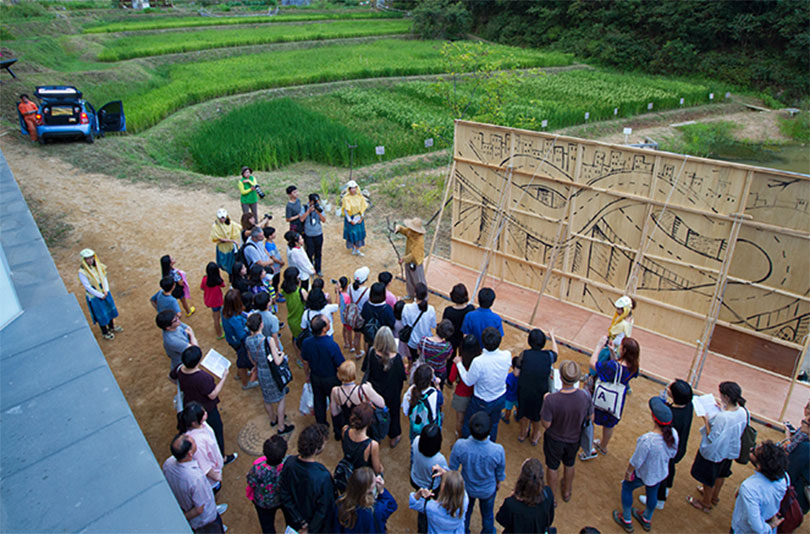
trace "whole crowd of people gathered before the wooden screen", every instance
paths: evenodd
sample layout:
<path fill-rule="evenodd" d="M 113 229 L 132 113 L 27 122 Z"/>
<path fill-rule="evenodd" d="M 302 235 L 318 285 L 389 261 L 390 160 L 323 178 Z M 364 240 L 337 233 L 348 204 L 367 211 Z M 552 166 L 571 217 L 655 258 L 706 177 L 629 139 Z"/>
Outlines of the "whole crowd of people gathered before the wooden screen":
<path fill-rule="evenodd" d="M 407 291 L 402 299 L 389 288 L 391 273 L 380 272 L 370 282 L 366 266 L 351 278 L 332 279 L 327 287 L 322 272 L 325 216 L 317 194 L 309 195 L 304 206 L 294 185 L 286 189 L 285 259 L 271 217 L 258 219 L 258 198 L 264 193 L 252 174 L 244 167 L 238 180 L 241 224 L 225 209 L 216 213 L 210 234 L 215 261 L 206 266 L 200 290 L 217 339 L 224 337 L 233 350 L 229 359 L 236 363 L 236 379 L 245 390 L 259 388 L 269 424 L 276 429 L 246 475 L 246 496 L 262 531 L 275 532 L 280 509 L 296 532 L 385 532 L 398 503 L 386 489 L 391 481 L 380 451 L 386 438 L 388 447 L 397 447 L 406 430 L 413 488 L 408 507 L 417 511 L 418 532 L 469 532 L 476 502 L 482 532 L 495 532 L 496 522 L 503 532 L 554 531 L 555 509 L 572 498 L 577 459 L 608 454 L 630 382 L 639 375 L 641 348 L 632 337 L 635 300 L 623 296 L 615 302 L 611 325 L 588 369 L 572 360 L 558 361 L 553 331 L 530 330 L 526 349 L 512 354 L 501 346 L 503 320 L 493 310 L 492 288 L 478 291 L 476 307 L 467 287 L 456 284 L 449 295 L 452 304 L 437 316 L 422 269 L 421 220 L 409 219 L 394 229 L 407 238 L 400 260 Z M 360 257 L 367 208 L 357 183 L 350 181 L 342 202 L 343 238 Z M 106 268 L 92 250 L 80 255 L 79 279 L 91 316 L 102 335 L 113 339 L 120 327 L 114 324 L 117 310 Z M 176 384 L 178 410 L 178 434 L 163 470 L 191 528 L 224 532 L 221 515 L 227 505 L 217 505 L 216 494 L 224 467 L 237 453 L 226 449 L 217 405 L 229 370 L 215 377 L 203 368 L 197 337 L 182 322 L 184 313 L 190 317 L 196 311 L 188 277 L 171 255 L 160 259 L 160 267 L 159 289 L 150 303 L 169 358 L 168 376 Z M 280 307 L 286 324 L 279 320 Z M 284 329 L 289 330 L 286 347 Z M 297 434 L 297 454 L 288 454 L 296 428 L 286 415 L 293 361 L 302 368 L 298 372 L 305 377 L 304 394 L 311 395 L 313 421 Z M 750 459 L 755 473 L 737 492 L 731 531 L 775 532 L 780 527 L 789 532 L 796 518 L 785 499 L 793 496 L 799 518 L 810 508 L 810 402 L 799 428 L 790 427 L 783 442 L 756 443 L 740 386 L 722 382 L 718 394 L 714 411 L 703 416 L 691 466 L 690 475 L 700 484 L 697 496 L 687 496 L 686 502 L 711 511 L 732 462 Z M 451 410 L 445 408 L 446 395 L 451 395 Z M 634 524 L 651 530 L 654 512 L 667 501 L 676 466 L 687 453 L 692 397 L 689 383 L 678 379 L 647 401 L 649 431 L 636 441 L 616 488 L 621 505 L 612 512 L 626 532 L 633 532 Z M 446 458 L 442 428 L 451 412 L 455 441 Z M 519 442 L 537 446 L 542 441 L 543 460 L 529 454 L 514 488 L 504 489 L 507 462 L 498 428 L 513 419 Z M 599 439 L 594 439 L 596 426 L 602 427 Z M 318 456 L 329 446 L 330 435 L 343 455 L 328 468 Z M 635 507 L 634 491 L 641 487 L 641 506 Z M 499 492 L 508 497 L 496 513 Z M 565 530 L 581 526 L 566 525 Z"/>

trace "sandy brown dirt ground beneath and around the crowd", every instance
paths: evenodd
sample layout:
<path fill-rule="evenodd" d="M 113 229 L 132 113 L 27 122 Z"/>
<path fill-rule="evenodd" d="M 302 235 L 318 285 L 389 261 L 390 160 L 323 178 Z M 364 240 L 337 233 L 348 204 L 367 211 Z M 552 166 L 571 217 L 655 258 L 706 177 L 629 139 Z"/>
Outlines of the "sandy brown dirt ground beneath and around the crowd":
<path fill-rule="evenodd" d="M 76 147 L 81 149 L 81 145 L 77 144 Z M 169 441 L 175 434 L 175 415 L 171 403 L 174 386 L 166 379 L 168 360 L 160 332 L 154 323 L 155 313 L 148 302 L 148 298 L 158 289 L 159 258 L 163 254 L 171 254 L 177 266 L 188 274 L 193 289 L 191 303 L 197 307 L 197 313 L 184 321 L 194 328 L 203 350 L 214 347 L 233 359 L 232 350 L 226 342 L 215 339 L 210 311 L 203 306 L 202 292 L 197 287 L 205 265 L 214 259 L 214 246 L 208 239 L 214 214 L 217 208 L 226 207 L 232 214 L 238 215 L 238 203 L 225 194 L 158 188 L 102 174 L 82 174 L 49 156 L 47 147 L 31 147 L 13 135 L 0 138 L 0 148 L 26 198 L 40 201 L 47 213 L 73 227 L 63 242 L 52 248 L 54 260 L 68 290 L 79 297 L 82 295 L 76 277 L 79 250 L 93 248 L 101 261 L 107 264 L 112 291 L 120 311 L 118 324 L 125 331 L 118 334 L 114 341 L 102 339 L 97 328 L 93 328 L 93 332 L 155 457 L 162 463 L 169 455 Z M 279 191 L 270 191 L 269 194 L 283 195 Z M 271 211 L 274 220 L 282 219 L 279 208 Z M 369 217 L 374 216 L 372 210 Z M 279 222 L 277 227 L 281 228 L 282 224 Z M 366 257 L 360 259 L 351 256 L 343 246 L 339 219 L 331 216 L 325 224 L 325 233 L 326 260 L 323 270 L 327 279 L 350 276 L 360 265 L 368 265 L 372 276 L 384 269 L 394 273 L 398 271 L 393 251 L 383 235 L 373 234 L 369 237 Z M 401 295 L 404 285 L 395 282 L 392 289 Z M 446 305 L 446 301 L 434 296 L 431 303 L 438 313 Z M 285 320 L 283 305 L 279 314 L 281 320 Z M 288 329 L 283 331 L 283 342 L 285 345 L 291 342 Z M 513 351 L 520 350 L 525 346 L 525 334 L 507 327 L 504 346 Z M 563 350 L 561 358 L 572 358 L 580 364 L 586 362 L 584 355 L 569 350 Z M 312 417 L 298 414 L 304 378 L 302 370 L 295 366 L 293 373 L 295 380 L 287 409 L 296 425 L 291 436 L 291 453 L 295 453 L 299 431 L 313 422 Z M 638 379 L 632 383 L 632 388 L 625 416 L 611 442 L 609 455 L 577 464 L 573 498 L 569 503 L 560 502 L 557 508 L 555 526 L 560 532 L 578 532 L 585 525 L 595 526 L 602 532 L 619 531 L 611 520 L 611 510 L 619 506 L 620 480 L 635 440 L 651 428 L 647 399 L 658 394 L 662 386 Z M 226 449 L 232 452 L 238 449 L 236 437 L 240 429 L 247 421 L 264 413 L 261 394 L 258 389 L 242 391 L 236 381 L 229 379 L 220 398 Z M 448 395 L 442 447 L 447 457 L 454 440 L 454 414 L 449 408 L 449 398 Z M 670 501 L 663 511 L 655 513 L 657 532 L 727 532 L 734 492 L 742 480 L 753 472 L 750 466 L 735 465 L 734 475 L 723 490 L 720 504 L 710 514 L 698 512 L 686 504 L 684 497 L 693 493 L 695 486 L 688 471 L 699 442 L 697 426 L 697 423 L 693 425 L 687 456 L 679 466 Z M 760 428 L 759 431 L 763 439 L 779 437 L 770 429 Z M 499 442 L 506 448 L 507 478 L 498 493 L 496 511 L 514 487 L 524 458 L 542 457 L 541 447 L 532 447 L 528 442 L 518 443 L 516 437 L 517 425 L 514 422 L 501 424 Z M 230 504 L 223 519 L 231 532 L 257 532 L 259 524 L 255 511 L 244 497 L 245 474 L 254 458 L 244 451 L 239 452 L 239 459 L 225 468 L 223 490 L 218 501 Z M 331 470 L 339 457 L 339 444 L 330 441 L 320 460 Z M 399 503 L 399 510 L 389 520 L 388 528 L 392 532 L 413 532 L 416 514 L 407 508 L 410 491 L 407 441 L 395 449 L 390 449 L 386 441 L 382 447 L 382 462 L 388 488 Z M 280 527 L 281 514 L 277 517 L 277 528 Z M 480 515 L 476 512 L 472 530 L 478 531 L 479 528 Z"/>

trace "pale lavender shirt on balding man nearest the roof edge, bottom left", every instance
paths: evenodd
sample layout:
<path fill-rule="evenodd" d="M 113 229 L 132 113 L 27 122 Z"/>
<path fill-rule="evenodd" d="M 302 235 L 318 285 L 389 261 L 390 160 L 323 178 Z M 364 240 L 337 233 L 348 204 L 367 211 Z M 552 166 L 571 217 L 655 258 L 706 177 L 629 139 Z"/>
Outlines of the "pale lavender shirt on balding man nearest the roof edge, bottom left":
<path fill-rule="evenodd" d="M 203 506 L 200 515 L 188 520 L 192 529 L 197 530 L 216 520 L 217 502 L 214 500 L 214 490 L 196 460 L 178 462 L 174 456 L 169 456 L 163 462 L 163 475 L 184 513 Z"/>

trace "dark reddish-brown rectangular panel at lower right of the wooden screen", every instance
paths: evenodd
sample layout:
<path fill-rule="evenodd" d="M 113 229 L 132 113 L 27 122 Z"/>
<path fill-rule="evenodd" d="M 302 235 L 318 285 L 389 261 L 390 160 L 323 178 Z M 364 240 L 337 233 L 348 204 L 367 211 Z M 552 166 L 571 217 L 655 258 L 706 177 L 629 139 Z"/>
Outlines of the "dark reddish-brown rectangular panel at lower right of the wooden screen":
<path fill-rule="evenodd" d="M 717 325 L 709 350 L 790 377 L 799 351 Z"/>

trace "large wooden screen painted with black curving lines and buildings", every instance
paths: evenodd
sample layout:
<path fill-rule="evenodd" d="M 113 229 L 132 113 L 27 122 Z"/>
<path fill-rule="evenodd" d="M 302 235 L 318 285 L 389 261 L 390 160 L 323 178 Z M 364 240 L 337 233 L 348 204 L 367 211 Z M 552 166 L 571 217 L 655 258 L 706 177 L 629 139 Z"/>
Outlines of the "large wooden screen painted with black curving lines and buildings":
<path fill-rule="evenodd" d="M 792 372 L 810 176 L 457 121 L 452 191 L 453 262 L 604 315 L 628 291 L 637 326 L 740 359 L 773 344 Z"/>

